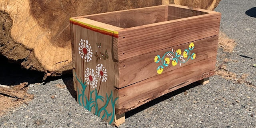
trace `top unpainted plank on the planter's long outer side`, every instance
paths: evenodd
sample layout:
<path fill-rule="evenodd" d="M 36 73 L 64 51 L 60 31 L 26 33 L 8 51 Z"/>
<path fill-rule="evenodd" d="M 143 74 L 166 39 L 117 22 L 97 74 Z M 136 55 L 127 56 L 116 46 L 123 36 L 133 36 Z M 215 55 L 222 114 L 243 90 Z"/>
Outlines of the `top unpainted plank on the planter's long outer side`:
<path fill-rule="evenodd" d="M 211 13 L 117 30 L 118 58 L 124 60 L 215 36 L 218 35 L 219 27 L 220 13 Z"/>

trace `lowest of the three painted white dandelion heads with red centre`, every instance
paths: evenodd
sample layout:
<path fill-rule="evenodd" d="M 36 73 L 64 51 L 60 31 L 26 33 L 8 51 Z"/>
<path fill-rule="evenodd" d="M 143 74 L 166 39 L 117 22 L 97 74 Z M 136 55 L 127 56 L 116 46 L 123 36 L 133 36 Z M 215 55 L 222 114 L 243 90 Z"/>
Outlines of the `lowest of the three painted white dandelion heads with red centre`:
<path fill-rule="evenodd" d="M 94 73 L 93 69 L 87 68 L 85 70 L 84 76 L 85 76 L 85 80 L 86 80 L 87 84 L 90 85 L 91 88 L 97 87 L 98 80 L 97 80 L 97 76 Z"/>

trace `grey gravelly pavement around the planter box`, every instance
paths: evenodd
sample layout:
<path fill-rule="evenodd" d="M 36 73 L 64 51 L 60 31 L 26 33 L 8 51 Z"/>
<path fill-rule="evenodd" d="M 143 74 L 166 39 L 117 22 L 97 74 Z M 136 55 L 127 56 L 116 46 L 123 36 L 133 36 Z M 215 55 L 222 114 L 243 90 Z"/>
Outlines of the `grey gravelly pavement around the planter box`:
<path fill-rule="evenodd" d="M 222 13 L 221 31 L 237 43 L 232 54 L 218 50 L 218 64 L 224 58 L 238 60 L 229 62 L 227 70 L 248 74 L 246 80 L 256 85 L 256 68 L 247 64 L 256 64 L 256 18 L 245 14 L 255 6 L 256 0 L 222 0 L 216 11 Z M 76 103 L 72 75 L 44 84 L 29 81 L 34 100 L 0 117 L 0 128 L 105 128 L 103 120 Z M 120 128 L 255 128 L 255 92 L 256 87 L 213 76 L 209 84 L 190 84 L 127 112 Z"/>

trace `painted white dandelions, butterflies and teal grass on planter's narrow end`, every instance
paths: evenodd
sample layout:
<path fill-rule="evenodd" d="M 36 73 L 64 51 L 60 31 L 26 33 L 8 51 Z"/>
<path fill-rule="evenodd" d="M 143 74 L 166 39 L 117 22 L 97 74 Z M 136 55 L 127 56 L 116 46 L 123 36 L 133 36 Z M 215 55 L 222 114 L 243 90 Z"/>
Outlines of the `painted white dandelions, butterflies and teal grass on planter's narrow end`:
<path fill-rule="evenodd" d="M 101 48 L 101 44 L 97 43 L 98 48 Z M 79 42 L 78 52 L 81 56 L 81 58 L 84 60 L 84 62 L 89 63 L 92 61 L 92 47 L 90 46 L 88 40 L 81 39 Z M 108 53 L 107 50 L 104 50 L 104 54 L 95 51 L 94 56 L 96 56 L 96 59 L 108 59 Z M 114 98 L 114 94 L 111 90 L 111 93 L 106 93 L 106 96 L 99 95 L 100 86 L 102 82 L 106 82 L 108 80 L 108 74 L 107 69 L 104 67 L 103 64 L 96 64 L 95 69 L 86 68 L 84 72 L 84 82 L 82 78 L 78 78 L 76 76 L 76 80 L 78 80 L 80 87 L 82 87 L 80 90 L 77 86 L 77 92 L 78 92 L 78 103 L 89 110 L 90 112 L 93 112 L 96 116 L 99 116 L 103 120 L 109 120 L 109 124 L 112 124 L 114 121 L 114 114 L 115 114 L 115 102 L 118 100 L 117 98 Z M 98 86 L 99 84 L 99 86 Z M 98 90 L 97 90 L 98 86 Z M 86 89 L 87 88 L 87 89 Z M 92 90 L 91 90 L 92 89 Z M 86 96 L 86 90 L 89 90 L 88 95 Z M 94 94 L 94 95 L 93 95 Z M 103 106 L 99 106 L 99 103 L 104 103 Z M 106 108 L 110 104 L 112 106 L 112 112 L 109 112 Z M 92 108 L 95 110 L 92 111 Z"/>

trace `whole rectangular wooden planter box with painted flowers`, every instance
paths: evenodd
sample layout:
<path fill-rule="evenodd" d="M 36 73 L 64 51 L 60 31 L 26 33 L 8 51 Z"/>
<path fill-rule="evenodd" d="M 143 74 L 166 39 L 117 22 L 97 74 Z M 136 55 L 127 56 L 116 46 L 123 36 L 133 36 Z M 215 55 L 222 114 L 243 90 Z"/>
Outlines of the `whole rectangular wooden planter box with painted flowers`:
<path fill-rule="evenodd" d="M 70 18 L 77 102 L 110 124 L 214 75 L 220 13 L 163 5 Z"/>

